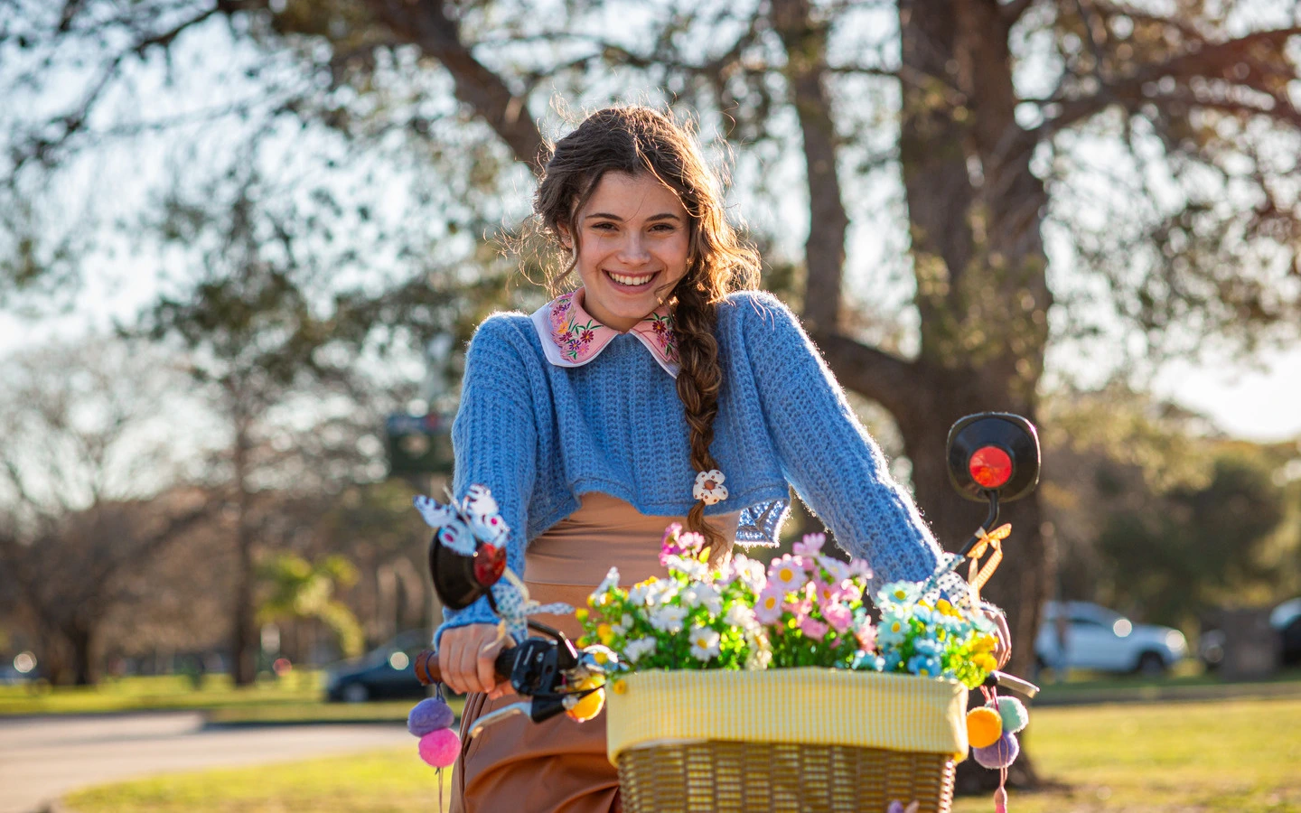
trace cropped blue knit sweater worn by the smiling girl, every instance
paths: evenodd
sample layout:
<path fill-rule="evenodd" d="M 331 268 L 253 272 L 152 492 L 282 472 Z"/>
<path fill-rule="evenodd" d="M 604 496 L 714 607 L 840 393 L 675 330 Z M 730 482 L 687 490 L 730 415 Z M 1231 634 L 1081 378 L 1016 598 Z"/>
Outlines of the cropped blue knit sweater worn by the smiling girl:
<path fill-rule="evenodd" d="M 872 566 L 873 587 L 929 576 L 939 546 L 790 310 L 770 294 L 731 294 L 716 334 L 723 380 L 710 451 L 729 497 L 705 515 L 742 510 L 738 544 L 775 545 L 790 484 Z M 587 364 L 559 367 L 543 341 L 523 313 L 484 320 L 451 431 L 453 490 L 492 490 L 520 576 L 527 544 L 572 514 L 580 494 L 604 492 L 657 516 L 695 503 L 682 401 L 650 351 L 619 334 Z M 497 620 L 485 598 L 444 615 L 438 635 Z"/>

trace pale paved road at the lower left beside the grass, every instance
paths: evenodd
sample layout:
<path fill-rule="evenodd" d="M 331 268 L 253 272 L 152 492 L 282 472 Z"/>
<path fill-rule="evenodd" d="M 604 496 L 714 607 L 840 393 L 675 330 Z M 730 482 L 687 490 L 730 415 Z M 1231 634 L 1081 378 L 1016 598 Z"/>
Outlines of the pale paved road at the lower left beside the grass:
<path fill-rule="evenodd" d="M 194 712 L 0 718 L 0 813 L 31 813 L 88 784 L 410 745 L 402 725 L 203 728 Z"/>

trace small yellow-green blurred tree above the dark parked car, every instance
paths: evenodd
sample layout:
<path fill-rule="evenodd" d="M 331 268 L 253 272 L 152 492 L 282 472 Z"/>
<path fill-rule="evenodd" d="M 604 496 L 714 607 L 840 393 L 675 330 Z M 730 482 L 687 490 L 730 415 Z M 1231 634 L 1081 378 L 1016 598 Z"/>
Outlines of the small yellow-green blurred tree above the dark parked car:
<path fill-rule="evenodd" d="M 258 607 L 262 623 L 288 619 L 315 619 L 338 639 L 345 657 L 362 654 L 362 624 L 346 604 L 334 597 L 340 588 L 356 583 L 358 572 L 346 558 L 329 555 L 315 565 L 291 553 L 278 554 L 259 567 L 269 587 Z"/>

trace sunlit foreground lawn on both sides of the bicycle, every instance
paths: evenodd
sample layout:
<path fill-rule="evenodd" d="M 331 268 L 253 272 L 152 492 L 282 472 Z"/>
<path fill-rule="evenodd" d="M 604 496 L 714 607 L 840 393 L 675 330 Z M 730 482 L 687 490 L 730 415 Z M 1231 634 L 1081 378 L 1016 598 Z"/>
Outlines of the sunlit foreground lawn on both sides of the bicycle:
<path fill-rule="evenodd" d="M 1016 813 L 1301 813 L 1301 699 L 1043 708 L 1028 741 L 1066 790 L 1013 792 Z M 444 771 L 445 779 L 450 771 Z M 72 795 L 79 813 L 425 813 L 435 774 L 411 748 L 177 774 Z M 987 796 L 956 813 L 987 813 Z"/>

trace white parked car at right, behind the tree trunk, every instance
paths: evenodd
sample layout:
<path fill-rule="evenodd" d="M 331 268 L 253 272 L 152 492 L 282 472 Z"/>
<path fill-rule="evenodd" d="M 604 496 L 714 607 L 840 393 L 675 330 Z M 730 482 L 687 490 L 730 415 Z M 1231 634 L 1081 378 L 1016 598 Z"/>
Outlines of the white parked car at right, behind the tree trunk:
<path fill-rule="evenodd" d="M 1095 604 L 1049 601 L 1034 654 L 1050 667 L 1160 675 L 1188 654 L 1188 641 L 1179 630 L 1136 624 Z"/>

